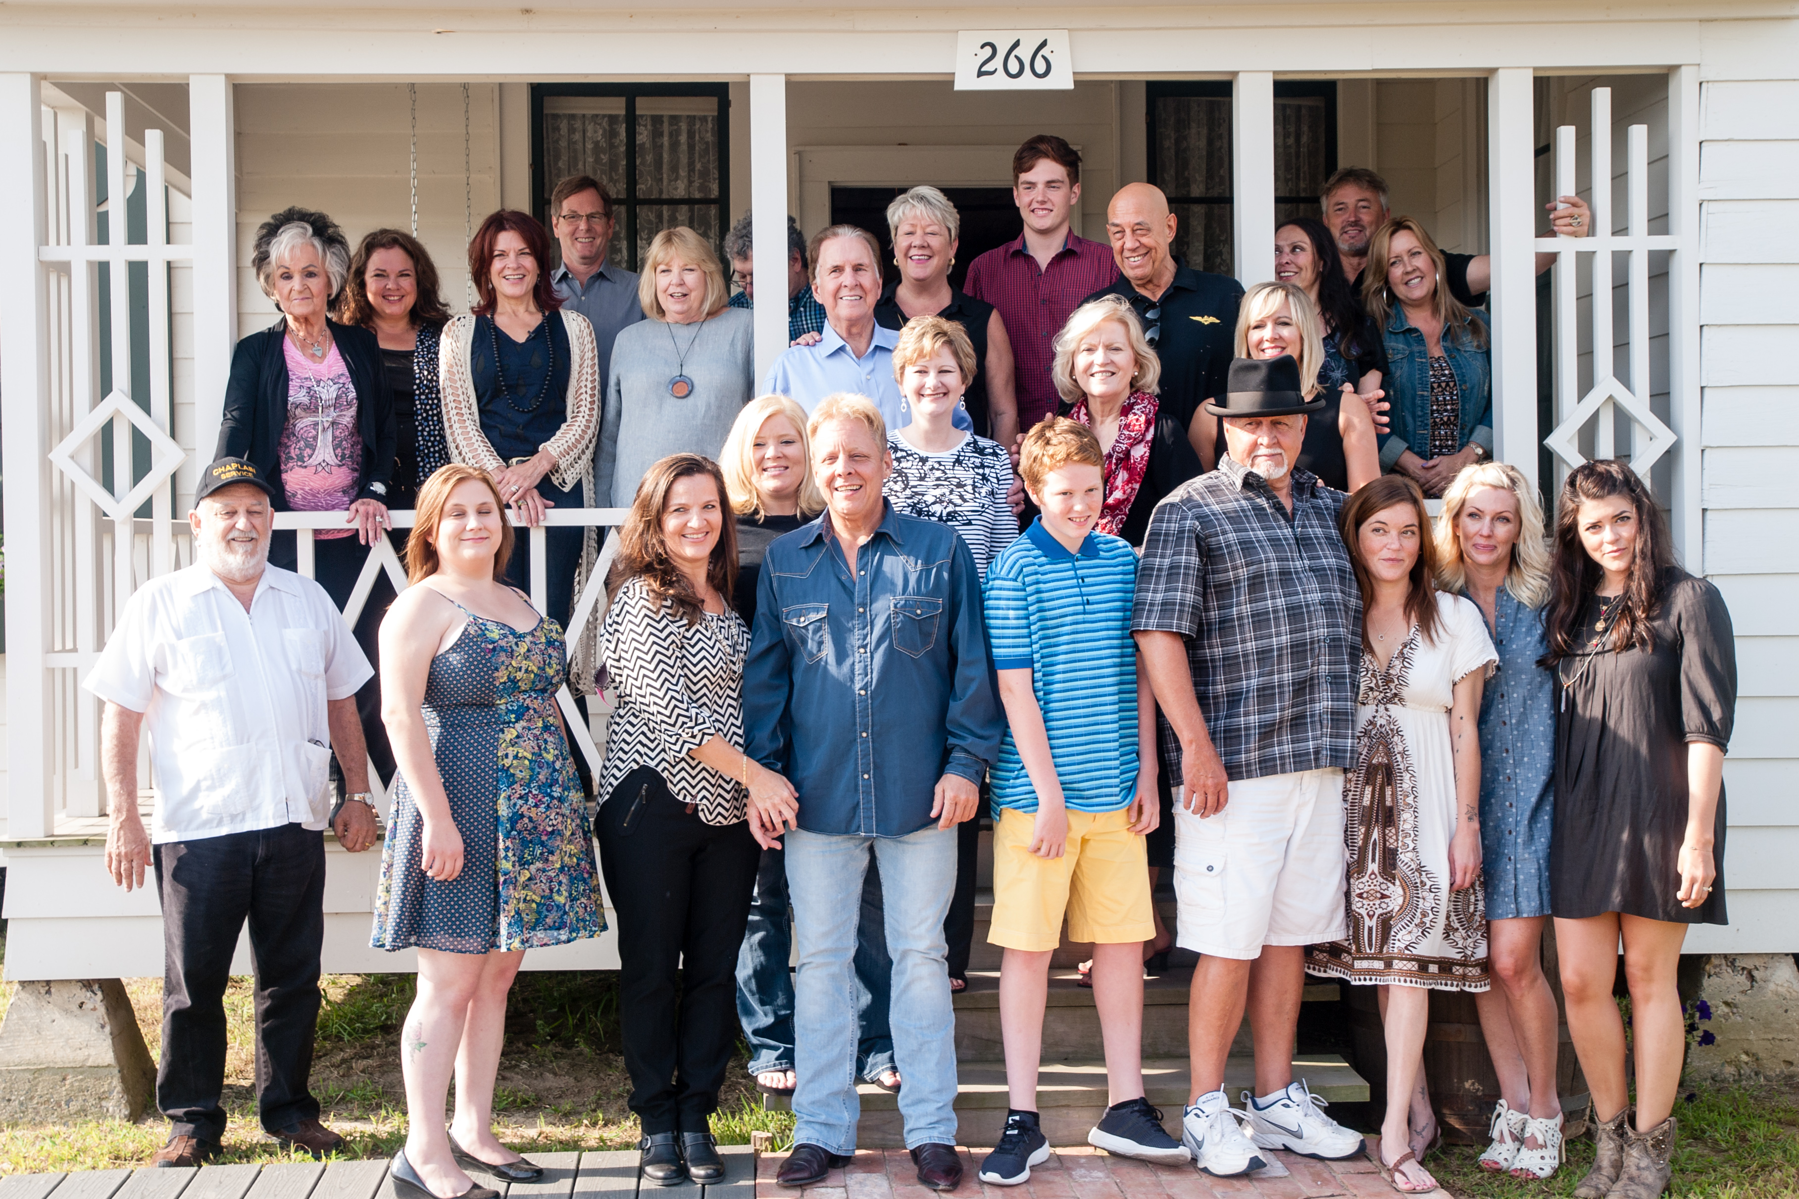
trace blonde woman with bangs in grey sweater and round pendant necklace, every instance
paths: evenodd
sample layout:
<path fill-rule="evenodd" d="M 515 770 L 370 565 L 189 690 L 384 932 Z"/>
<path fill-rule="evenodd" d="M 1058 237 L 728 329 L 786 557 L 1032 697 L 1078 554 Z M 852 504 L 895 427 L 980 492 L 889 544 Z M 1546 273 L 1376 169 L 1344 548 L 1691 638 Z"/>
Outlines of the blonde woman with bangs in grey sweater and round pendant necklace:
<path fill-rule="evenodd" d="M 637 300 L 648 320 L 612 343 L 594 451 L 594 507 L 631 505 L 637 484 L 673 453 L 718 455 L 756 394 L 756 320 L 730 307 L 725 268 L 685 225 L 649 243 Z"/>

